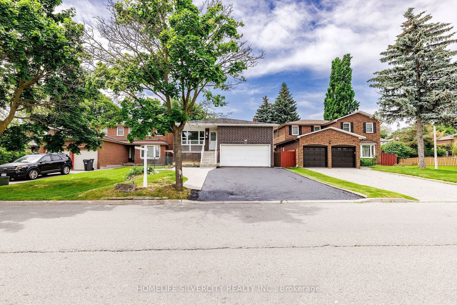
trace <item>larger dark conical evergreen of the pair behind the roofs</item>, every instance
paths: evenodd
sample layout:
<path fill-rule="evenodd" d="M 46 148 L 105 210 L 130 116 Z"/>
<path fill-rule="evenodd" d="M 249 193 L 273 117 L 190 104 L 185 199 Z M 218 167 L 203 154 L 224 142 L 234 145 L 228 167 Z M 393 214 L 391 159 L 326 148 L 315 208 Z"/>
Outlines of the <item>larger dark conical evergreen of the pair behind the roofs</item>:
<path fill-rule="evenodd" d="M 282 124 L 300 119 L 297 113 L 297 102 L 292 98 L 286 83 L 282 83 L 273 107 L 275 111 L 272 119 L 273 123 Z"/>

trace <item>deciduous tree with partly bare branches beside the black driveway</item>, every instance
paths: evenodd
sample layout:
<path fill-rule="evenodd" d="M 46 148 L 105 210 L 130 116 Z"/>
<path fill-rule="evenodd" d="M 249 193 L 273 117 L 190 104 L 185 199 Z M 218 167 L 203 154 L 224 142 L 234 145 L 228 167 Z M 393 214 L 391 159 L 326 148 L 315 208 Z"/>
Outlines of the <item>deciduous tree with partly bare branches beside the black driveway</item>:
<path fill-rule="evenodd" d="M 96 25 L 106 44 L 90 29 L 86 32 L 89 51 L 98 61 L 97 76 L 121 97 L 122 119 L 132 137 L 154 130 L 173 133 L 176 189 L 181 191 L 186 121 L 195 109 L 225 105 L 224 97 L 212 90 L 229 90 L 245 81 L 243 71 L 263 54 L 252 54 L 238 33 L 243 23 L 234 19 L 231 5 L 219 0 L 205 1 L 200 8 L 191 0 L 110 1 L 107 8 L 109 18 L 98 17 Z"/>

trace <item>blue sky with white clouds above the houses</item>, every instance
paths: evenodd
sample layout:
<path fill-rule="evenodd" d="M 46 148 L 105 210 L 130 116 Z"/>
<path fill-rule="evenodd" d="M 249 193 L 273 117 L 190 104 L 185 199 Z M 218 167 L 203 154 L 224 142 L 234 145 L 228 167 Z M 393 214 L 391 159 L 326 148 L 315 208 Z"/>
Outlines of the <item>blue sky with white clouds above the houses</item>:
<path fill-rule="evenodd" d="M 199 4 L 201 1 L 194 1 Z M 76 20 L 92 23 L 106 15 L 102 0 L 64 0 L 63 8 L 76 9 Z M 400 32 L 408 7 L 427 11 L 432 21 L 457 25 L 455 0 L 224 0 L 244 22 L 240 32 L 265 59 L 244 74 L 247 82 L 225 94 L 223 112 L 230 118 L 251 120 L 262 96 L 274 102 L 285 81 L 298 104 L 301 118 L 322 119 L 331 61 L 351 53 L 352 86 L 360 110 L 377 110 L 378 95 L 367 80 L 385 66 L 379 53 Z M 452 48 L 456 48 L 453 46 Z"/>

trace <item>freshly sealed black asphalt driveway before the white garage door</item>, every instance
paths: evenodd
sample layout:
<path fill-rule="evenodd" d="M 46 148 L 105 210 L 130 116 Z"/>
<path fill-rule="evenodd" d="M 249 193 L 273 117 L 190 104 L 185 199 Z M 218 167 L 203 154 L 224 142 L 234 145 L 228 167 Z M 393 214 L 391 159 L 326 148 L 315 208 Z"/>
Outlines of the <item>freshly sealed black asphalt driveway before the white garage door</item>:
<path fill-rule="evenodd" d="M 359 196 L 316 182 L 282 168 L 219 167 L 206 177 L 200 201 L 346 200 Z"/>

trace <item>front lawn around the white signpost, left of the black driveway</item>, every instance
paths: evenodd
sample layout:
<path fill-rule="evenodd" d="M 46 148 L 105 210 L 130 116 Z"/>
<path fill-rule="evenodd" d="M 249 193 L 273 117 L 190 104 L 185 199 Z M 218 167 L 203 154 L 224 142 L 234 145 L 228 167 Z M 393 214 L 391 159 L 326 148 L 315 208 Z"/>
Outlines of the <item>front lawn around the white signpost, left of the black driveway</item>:
<path fill-rule="evenodd" d="M 87 171 L 66 176 L 54 176 L 41 180 L 0 187 L 0 200 L 97 200 L 104 197 L 151 196 L 170 199 L 187 198 L 189 190 L 176 192 L 170 183 L 175 181 L 174 171 L 159 171 L 148 175 L 148 189 L 137 188 L 134 193 L 117 193 L 116 183 L 123 182 L 130 167 L 104 171 Z M 186 181 L 187 178 L 183 177 Z M 143 176 L 133 179 L 143 186 Z M 130 183 L 131 181 L 125 182 Z"/>

